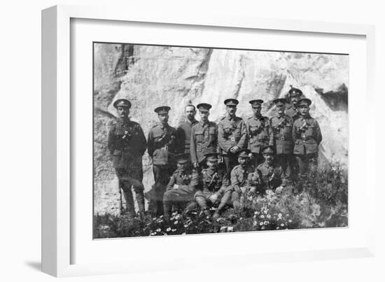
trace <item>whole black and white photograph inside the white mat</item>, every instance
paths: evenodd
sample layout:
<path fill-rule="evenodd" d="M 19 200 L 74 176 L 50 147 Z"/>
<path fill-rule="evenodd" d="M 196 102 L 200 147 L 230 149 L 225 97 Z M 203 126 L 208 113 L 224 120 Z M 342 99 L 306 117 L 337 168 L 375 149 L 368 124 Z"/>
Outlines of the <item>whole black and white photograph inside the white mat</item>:
<path fill-rule="evenodd" d="M 90 48 L 94 239 L 348 227 L 348 54 Z"/>

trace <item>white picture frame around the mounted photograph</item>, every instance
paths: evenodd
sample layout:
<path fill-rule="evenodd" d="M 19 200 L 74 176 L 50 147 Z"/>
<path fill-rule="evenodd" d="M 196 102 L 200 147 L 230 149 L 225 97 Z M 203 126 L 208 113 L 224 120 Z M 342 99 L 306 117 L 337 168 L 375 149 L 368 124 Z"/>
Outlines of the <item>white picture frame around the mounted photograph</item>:
<path fill-rule="evenodd" d="M 94 262 L 73 262 L 73 233 L 71 232 L 71 221 L 74 218 L 73 206 L 71 203 L 71 185 L 73 171 L 71 170 L 71 142 L 73 141 L 73 120 L 71 100 L 71 19 L 94 19 L 126 22 L 151 22 L 158 24 L 176 24 L 183 26 L 199 26 L 210 29 L 212 27 L 230 27 L 237 29 L 264 29 L 265 31 L 295 31 L 303 33 L 333 34 L 334 36 L 353 35 L 365 36 L 366 47 L 366 77 L 365 77 L 365 113 L 370 113 L 374 107 L 374 27 L 365 24 L 342 24 L 327 22 L 301 22 L 293 20 L 267 20 L 255 17 L 241 17 L 232 15 L 188 15 L 174 13 L 145 13 L 135 10 L 123 10 L 119 8 L 106 7 L 77 7 L 77 6 L 54 6 L 42 12 L 42 269 L 43 272 L 53 276 L 79 276 L 94 274 L 114 274 L 123 272 L 144 272 L 147 269 L 180 269 L 186 267 L 204 267 L 204 260 L 195 260 L 193 265 L 182 260 L 176 260 L 173 264 L 166 261 L 156 265 L 144 258 L 127 258 L 110 263 Z M 350 93 L 349 93 L 350 94 Z M 350 104 L 349 104 L 350 106 Z M 350 114 L 349 109 L 349 114 Z M 365 114 L 364 113 L 364 114 Z M 365 125 L 366 132 L 374 132 L 374 123 Z M 331 246 L 321 249 L 297 249 L 296 251 L 271 251 L 258 253 L 250 248 L 246 253 L 221 255 L 211 261 L 211 266 L 224 267 L 234 258 L 237 265 L 243 263 L 258 262 L 288 262 L 293 260 L 319 260 L 335 258 L 358 258 L 374 255 L 374 204 L 375 204 L 375 183 L 370 177 L 370 170 L 367 166 L 374 163 L 375 148 L 368 146 L 370 143 L 369 134 L 365 134 L 363 150 L 365 167 L 362 177 L 365 180 L 365 208 L 369 219 L 367 225 L 363 226 L 365 239 L 352 243 L 349 247 Z M 349 147 L 350 148 L 350 147 Z M 361 167 L 363 164 L 361 164 Z M 349 171 L 349 177 L 351 171 Z M 351 180 L 349 179 L 349 184 Z M 351 189 L 351 186 L 349 187 Z M 362 188 L 361 188 L 362 189 Z M 350 195 L 349 195 L 350 197 Z M 351 197 L 349 198 L 349 201 Z M 349 207 L 350 209 L 350 207 Z M 349 214 L 349 216 L 351 216 Z M 353 230 L 351 228 L 351 230 Z M 72 230 L 73 231 L 73 230 Z M 349 231 L 349 230 L 348 230 Z M 349 235 L 346 231 L 346 235 Z M 330 230 L 305 230 L 322 233 Z M 266 238 L 265 233 L 261 238 Z M 227 240 L 232 240 L 239 234 L 225 234 Z M 252 240 L 255 233 L 242 235 L 242 239 Z M 288 236 L 281 233 L 280 237 Z M 297 236 L 291 232 L 290 237 Z M 310 235 L 309 235 L 310 236 Z M 193 239 L 192 239 L 193 238 Z M 199 241 L 201 238 L 211 239 L 208 235 L 190 237 L 190 241 Z M 130 239 L 132 240 L 135 239 Z M 130 240 L 115 240 L 115 244 L 126 244 Z M 162 238 L 152 238 L 158 244 Z M 185 239 L 176 237 L 178 244 L 186 244 Z M 202 239 L 201 239 L 202 240 Z M 170 244 L 171 241 L 162 242 Z M 129 242 L 128 242 L 129 243 Z M 128 244 L 127 243 L 127 244 Z M 148 241 L 147 241 L 148 243 Z M 195 244 L 194 242 L 191 244 Z M 190 243 L 188 243 L 190 244 Z M 202 255 L 202 254 L 199 254 Z M 135 252 L 132 253 L 132 257 Z M 198 257 L 197 253 L 193 258 Z M 207 253 L 204 257 L 209 258 Z M 176 256 L 176 258 L 178 258 Z M 234 261 L 234 260 L 232 260 Z M 144 266 L 146 262 L 146 266 Z"/>

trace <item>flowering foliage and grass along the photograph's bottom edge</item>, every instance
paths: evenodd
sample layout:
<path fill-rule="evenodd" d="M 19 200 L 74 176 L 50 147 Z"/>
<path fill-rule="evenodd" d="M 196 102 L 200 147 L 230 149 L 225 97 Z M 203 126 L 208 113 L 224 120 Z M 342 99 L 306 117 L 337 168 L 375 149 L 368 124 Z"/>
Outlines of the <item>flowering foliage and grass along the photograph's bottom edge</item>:
<path fill-rule="evenodd" d="M 139 217 L 94 216 L 94 237 L 139 237 L 217 232 L 285 230 L 347 226 L 347 177 L 342 169 L 313 172 L 277 194 L 247 197 L 241 209 L 230 209 L 220 218 L 202 211 L 174 211 L 169 220 Z M 214 211 L 211 211 L 214 212 Z"/>

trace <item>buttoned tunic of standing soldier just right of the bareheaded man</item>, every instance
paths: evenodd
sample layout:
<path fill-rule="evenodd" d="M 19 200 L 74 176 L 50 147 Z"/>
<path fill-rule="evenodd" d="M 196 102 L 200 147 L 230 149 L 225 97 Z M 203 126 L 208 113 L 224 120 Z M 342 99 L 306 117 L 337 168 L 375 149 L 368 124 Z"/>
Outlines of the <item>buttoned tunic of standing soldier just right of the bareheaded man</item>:
<path fill-rule="evenodd" d="M 207 153 L 218 153 L 218 126 L 200 121 L 191 129 L 191 162 L 202 162 Z"/>

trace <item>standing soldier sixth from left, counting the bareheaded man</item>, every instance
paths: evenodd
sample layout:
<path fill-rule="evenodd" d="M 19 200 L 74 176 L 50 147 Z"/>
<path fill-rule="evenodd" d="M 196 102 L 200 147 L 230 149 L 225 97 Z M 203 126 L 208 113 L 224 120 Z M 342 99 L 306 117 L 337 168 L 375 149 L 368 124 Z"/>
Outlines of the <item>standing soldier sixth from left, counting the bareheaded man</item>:
<path fill-rule="evenodd" d="M 249 101 L 253 108 L 253 116 L 246 120 L 248 132 L 248 149 L 253 154 L 253 166 L 263 162 L 262 152 L 260 149 L 267 145 L 273 144 L 273 132 L 269 127 L 269 118 L 261 115 L 263 101 L 255 99 Z"/>

